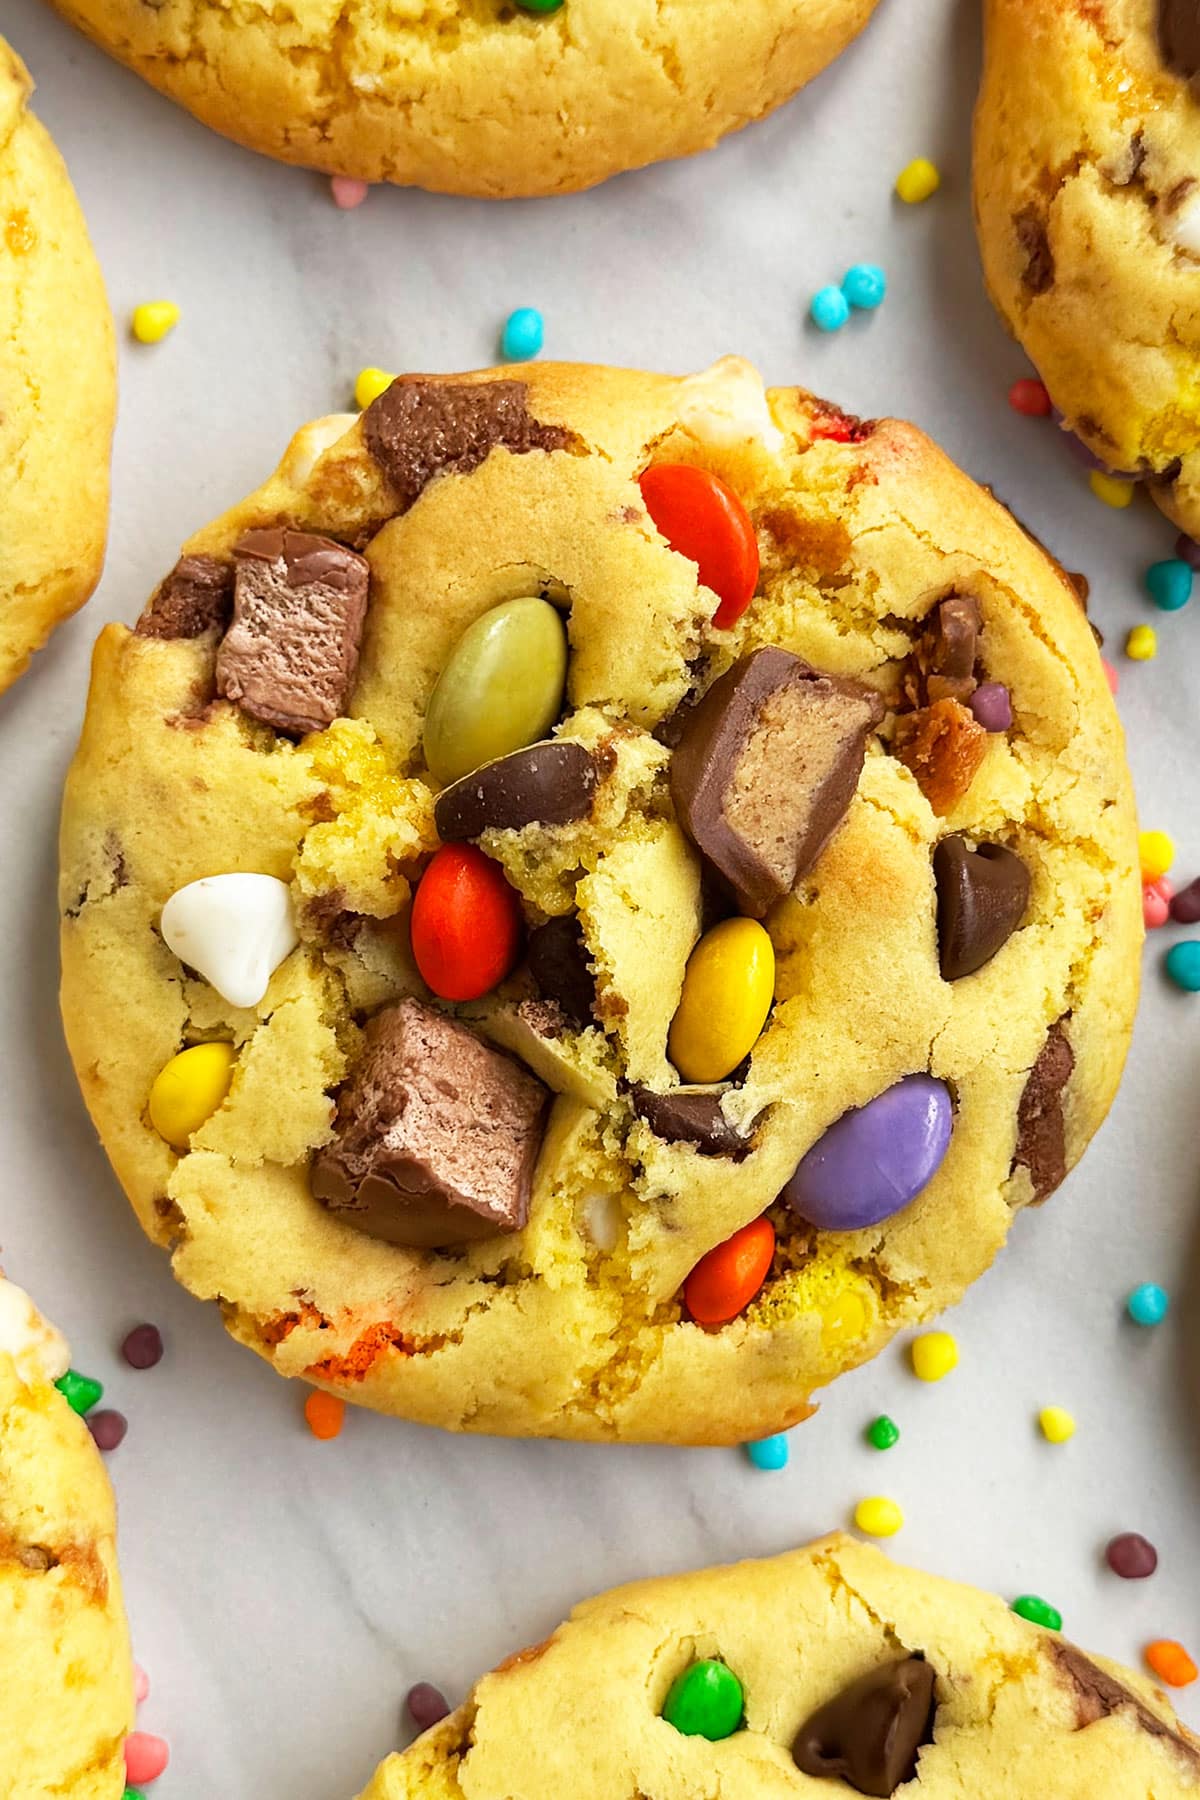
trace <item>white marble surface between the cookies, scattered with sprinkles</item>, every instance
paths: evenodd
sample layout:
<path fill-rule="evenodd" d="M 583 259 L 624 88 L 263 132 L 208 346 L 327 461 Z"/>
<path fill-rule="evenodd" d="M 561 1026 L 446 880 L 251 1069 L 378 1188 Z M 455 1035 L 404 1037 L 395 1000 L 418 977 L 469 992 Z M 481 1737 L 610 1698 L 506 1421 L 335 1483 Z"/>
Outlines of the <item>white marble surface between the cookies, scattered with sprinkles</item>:
<path fill-rule="evenodd" d="M 327 182 L 209 135 L 38 0 L 4 0 L 2 14 L 72 166 L 119 322 L 144 299 L 184 313 L 164 344 L 122 347 L 104 583 L 0 704 L 0 1240 L 77 1366 L 130 1415 L 112 1472 L 153 1679 L 142 1724 L 173 1746 L 155 1800 L 347 1800 L 401 1741 L 412 1681 L 457 1699 L 585 1593 L 793 1544 L 871 1492 L 905 1507 L 898 1557 L 1043 1593 L 1078 1642 L 1126 1660 L 1151 1636 L 1200 1652 L 1187 1301 L 1200 999 L 1166 986 L 1166 934 L 1148 949 L 1112 1121 L 946 1319 L 957 1373 L 921 1386 L 898 1345 L 828 1393 L 784 1474 L 736 1451 L 455 1440 L 369 1415 L 317 1444 L 304 1391 L 232 1345 L 142 1240 L 54 1004 L 56 808 L 95 630 L 131 621 L 180 540 L 257 484 L 295 425 L 347 405 L 362 364 L 489 362 L 518 304 L 543 310 L 547 355 L 698 369 L 739 349 L 774 382 L 918 418 L 1090 576 L 1144 821 L 1175 833 L 1184 875 L 1200 871 L 1200 599 L 1164 616 L 1139 590 L 1173 531 L 1150 506 L 1103 508 L 1052 428 L 1004 401 L 1025 367 L 984 299 L 970 229 L 975 0 L 883 0 L 806 95 L 687 166 L 511 207 L 376 189 L 349 214 Z M 914 155 L 934 157 L 945 184 L 905 209 L 891 187 Z M 808 297 L 860 259 L 887 266 L 883 310 L 820 337 Z M 1159 659 L 1130 664 L 1121 643 L 1142 619 Z M 1141 1280 L 1173 1292 L 1159 1332 L 1123 1321 Z M 167 1339 L 149 1373 L 117 1357 L 139 1319 Z M 1045 1404 L 1076 1413 L 1072 1444 L 1042 1442 Z M 876 1411 L 903 1431 L 883 1456 L 860 1436 Z M 1150 1582 L 1103 1570 L 1117 1530 L 1159 1546 Z M 1196 1690 L 1182 1710 L 1200 1724 Z"/>

